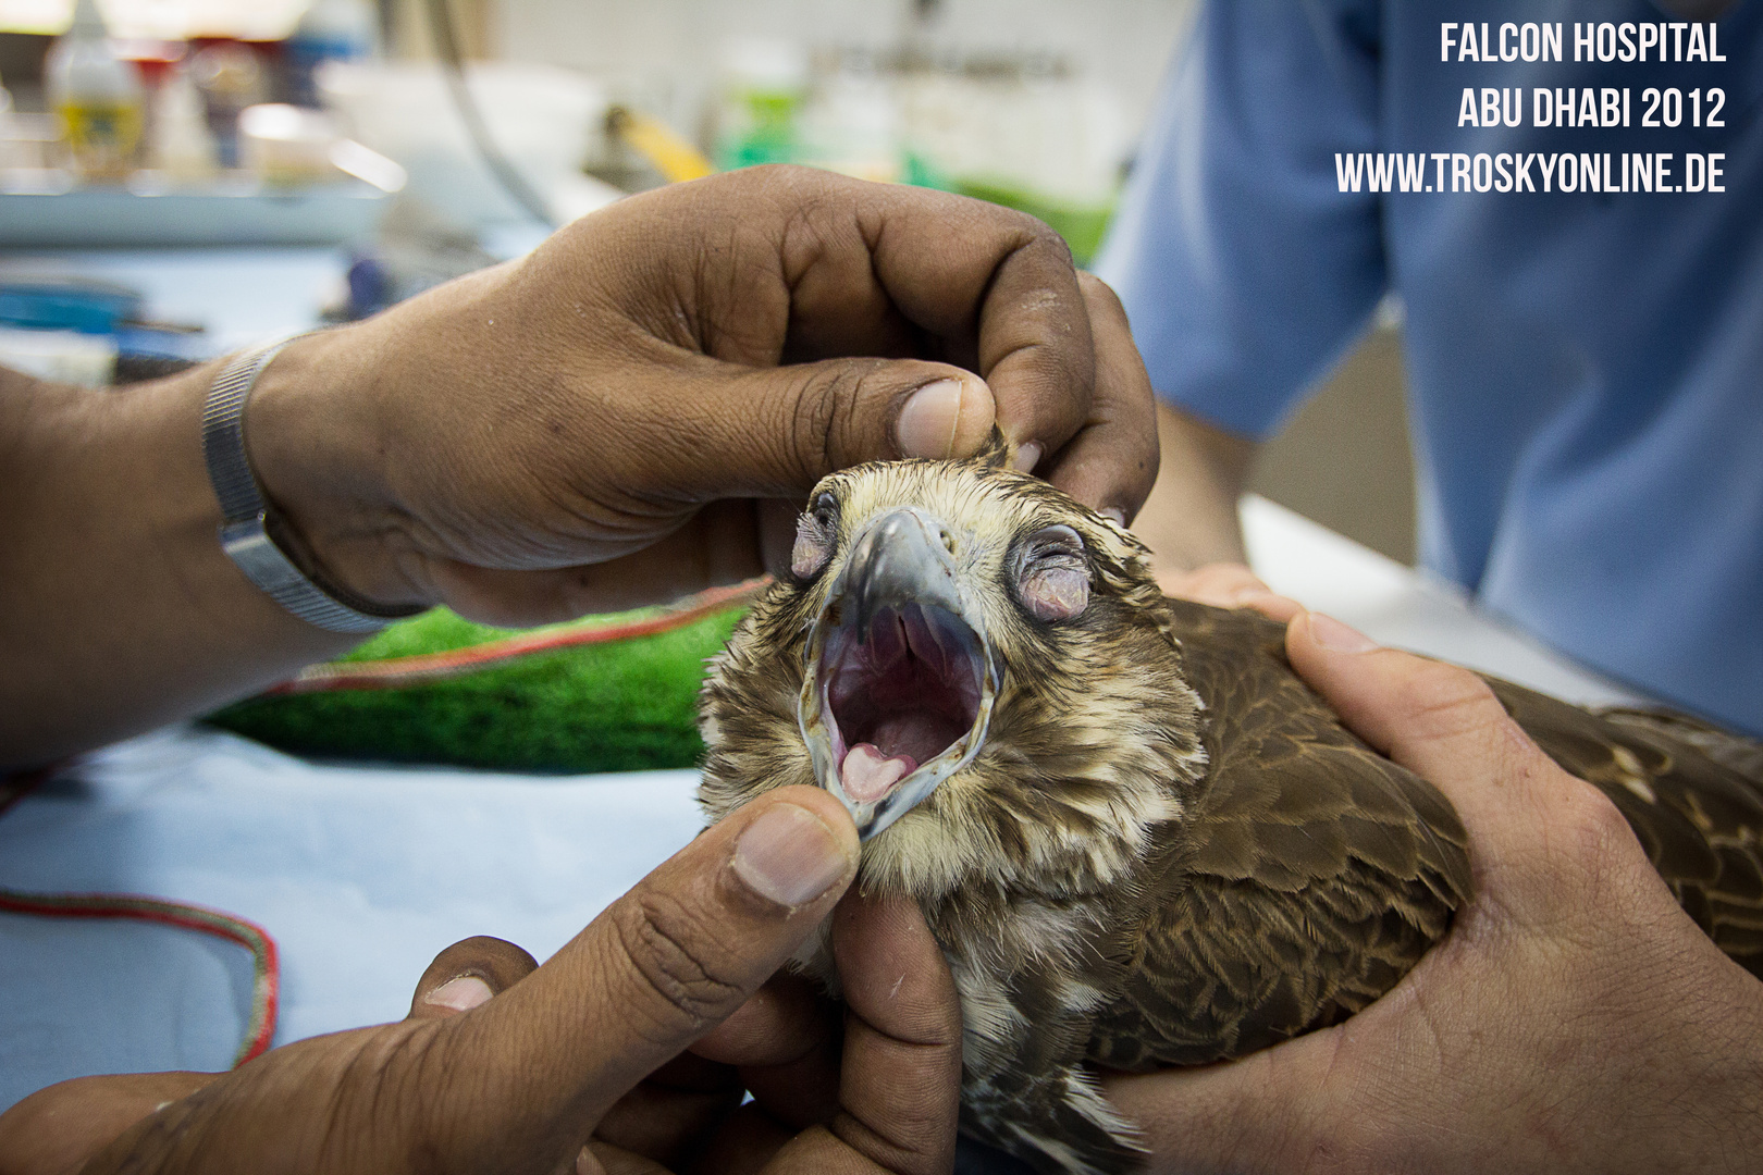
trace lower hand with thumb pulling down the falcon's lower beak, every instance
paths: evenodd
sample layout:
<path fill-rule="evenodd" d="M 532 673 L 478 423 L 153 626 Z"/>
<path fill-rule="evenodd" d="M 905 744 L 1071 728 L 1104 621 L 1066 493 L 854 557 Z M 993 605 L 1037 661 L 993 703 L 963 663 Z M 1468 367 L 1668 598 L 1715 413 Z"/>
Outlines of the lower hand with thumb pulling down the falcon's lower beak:
<path fill-rule="evenodd" d="M 679 1053 L 742 1009 L 855 867 L 844 810 L 815 787 L 779 789 L 693 840 L 543 967 L 469 939 L 435 958 L 400 1024 L 286 1045 L 227 1075 L 51 1087 L 0 1117 L 0 1171 L 652 1171 L 643 1140 L 716 1138 L 739 1092 L 700 1097 L 696 1117 L 665 1106 L 672 1119 L 658 1122 L 638 1105 L 643 1087 L 652 1094 L 658 1071 L 677 1075 Z M 913 911 L 855 898 L 834 944 L 853 1009 L 836 1106 L 800 1133 L 721 1145 L 746 1170 L 777 1173 L 947 1170 L 961 1031 L 941 953 Z M 751 1038 L 732 1059 L 763 1064 L 767 1048 L 776 1041 Z"/>

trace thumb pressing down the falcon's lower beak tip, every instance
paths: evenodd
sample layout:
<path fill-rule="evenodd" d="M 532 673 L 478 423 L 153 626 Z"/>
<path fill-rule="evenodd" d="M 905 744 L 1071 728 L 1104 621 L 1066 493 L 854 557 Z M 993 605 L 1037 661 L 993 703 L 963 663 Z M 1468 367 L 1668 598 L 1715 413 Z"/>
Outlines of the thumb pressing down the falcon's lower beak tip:
<path fill-rule="evenodd" d="M 703 831 L 545 965 L 446 1025 L 421 1112 L 490 1163 L 548 1170 L 636 1082 L 721 1024 L 802 944 L 857 870 L 818 787 L 779 787 Z M 488 1092 L 487 1092 L 488 1090 Z M 488 1145 L 488 1143 L 481 1143 Z"/>

